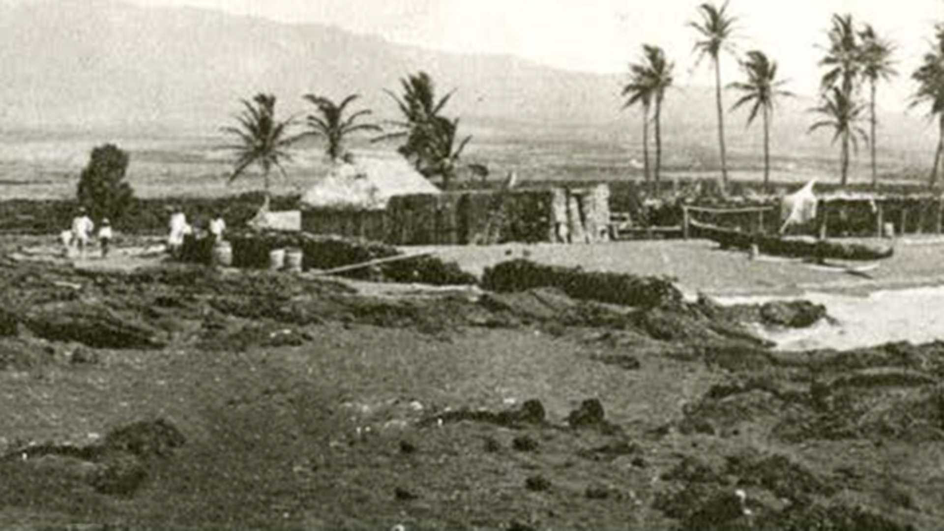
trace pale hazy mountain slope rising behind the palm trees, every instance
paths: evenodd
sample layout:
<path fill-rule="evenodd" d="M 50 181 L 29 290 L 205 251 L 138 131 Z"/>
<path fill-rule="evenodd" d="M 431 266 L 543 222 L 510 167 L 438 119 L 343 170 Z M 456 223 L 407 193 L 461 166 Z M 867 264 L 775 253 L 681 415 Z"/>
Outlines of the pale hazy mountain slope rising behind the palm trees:
<path fill-rule="evenodd" d="M 638 143 L 635 110 L 620 111 L 620 76 L 566 72 L 508 56 L 463 56 L 388 43 L 331 26 L 285 25 L 202 9 L 145 9 L 110 0 L 0 3 L 0 118 L 6 128 L 189 130 L 210 134 L 237 100 L 280 96 L 284 111 L 301 94 L 358 92 L 381 114 L 394 111 L 383 89 L 423 69 L 449 110 L 470 130 L 509 137 L 560 138 L 618 146 Z M 728 96 L 733 102 L 733 94 Z M 826 135 L 810 136 L 814 101 L 784 103 L 776 155 L 833 157 Z M 884 113 L 884 155 L 897 163 L 933 155 L 936 132 L 918 116 Z M 666 155 L 715 155 L 709 88 L 675 89 L 665 111 Z M 733 151 L 756 156 L 760 128 L 728 119 Z M 929 155 L 927 152 L 931 151 Z"/>

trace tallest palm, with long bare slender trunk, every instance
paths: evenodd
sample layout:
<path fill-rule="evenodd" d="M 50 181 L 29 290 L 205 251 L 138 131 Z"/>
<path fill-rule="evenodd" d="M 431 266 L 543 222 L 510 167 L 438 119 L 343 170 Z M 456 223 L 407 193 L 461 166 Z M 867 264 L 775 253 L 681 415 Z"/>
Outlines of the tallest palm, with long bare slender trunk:
<path fill-rule="evenodd" d="M 728 185 L 728 163 L 724 147 L 724 104 L 721 101 L 721 60 L 723 50 L 731 51 L 731 38 L 734 32 L 736 17 L 726 11 L 728 2 L 718 9 L 714 4 L 701 4 L 699 14 L 701 22 L 690 22 L 689 26 L 699 32 L 700 41 L 695 44 L 699 51 L 699 61 L 705 56 L 711 58 L 715 64 L 715 97 L 717 106 L 717 142 L 721 150 L 721 189 Z"/>

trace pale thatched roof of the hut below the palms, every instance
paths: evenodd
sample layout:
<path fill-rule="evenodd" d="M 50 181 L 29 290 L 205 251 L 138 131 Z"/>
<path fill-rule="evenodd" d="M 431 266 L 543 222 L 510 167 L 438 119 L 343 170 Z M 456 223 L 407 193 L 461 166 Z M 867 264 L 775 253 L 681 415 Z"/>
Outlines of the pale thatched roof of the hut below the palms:
<path fill-rule="evenodd" d="M 379 210 L 390 197 L 439 193 L 402 157 L 359 157 L 331 168 L 301 202 L 308 208 Z"/>

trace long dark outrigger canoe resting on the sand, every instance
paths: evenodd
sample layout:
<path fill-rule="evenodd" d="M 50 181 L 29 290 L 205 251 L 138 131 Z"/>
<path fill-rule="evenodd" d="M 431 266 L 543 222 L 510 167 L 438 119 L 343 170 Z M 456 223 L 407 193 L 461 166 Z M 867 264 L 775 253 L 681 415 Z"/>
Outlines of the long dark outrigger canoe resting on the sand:
<path fill-rule="evenodd" d="M 890 241 L 840 242 L 818 240 L 812 236 L 773 236 L 717 227 L 694 220 L 689 220 L 689 230 L 693 236 L 715 241 L 722 248 L 750 249 L 751 246 L 757 246 L 764 254 L 789 258 L 871 261 L 890 258 L 895 253 Z"/>

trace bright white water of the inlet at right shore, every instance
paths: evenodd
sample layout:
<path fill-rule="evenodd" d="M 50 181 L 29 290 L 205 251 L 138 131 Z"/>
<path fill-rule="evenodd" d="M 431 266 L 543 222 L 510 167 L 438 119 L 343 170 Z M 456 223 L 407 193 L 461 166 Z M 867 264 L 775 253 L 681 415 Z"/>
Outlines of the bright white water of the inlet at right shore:
<path fill-rule="evenodd" d="M 770 297 L 719 298 L 722 304 L 762 303 Z M 780 351 L 847 350 L 894 341 L 944 339 L 944 285 L 875 291 L 868 296 L 809 292 L 796 299 L 824 304 L 834 322 L 805 330 L 756 332 Z"/>

